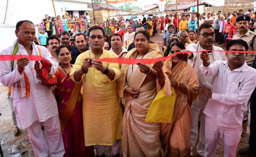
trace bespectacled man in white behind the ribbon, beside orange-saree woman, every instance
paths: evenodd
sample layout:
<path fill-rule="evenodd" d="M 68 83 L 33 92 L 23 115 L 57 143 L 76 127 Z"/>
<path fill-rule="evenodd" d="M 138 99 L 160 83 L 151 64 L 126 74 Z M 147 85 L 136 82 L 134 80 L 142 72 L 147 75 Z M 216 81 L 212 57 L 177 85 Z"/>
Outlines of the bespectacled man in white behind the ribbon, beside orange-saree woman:
<path fill-rule="evenodd" d="M 191 43 L 187 46 L 188 51 L 202 51 L 202 50 L 209 50 L 210 56 L 210 63 L 213 63 L 216 60 L 226 60 L 225 53 L 218 52 L 214 50 L 223 50 L 220 47 L 214 46 L 213 42 L 215 39 L 214 29 L 212 24 L 204 23 L 198 28 L 198 39 L 200 42 L 198 43 Z M 205 77 L 202 75 L 200 65 L 203 61 L 200 59 L 201 53 L 190 53 L 188 56 L 188 63 L 194 68 L 198 80 L 200 83 L 201 88 L 208 88 L 211 89 L 212 83 L 214 81 L 213 76 Z M 198 95 L 198 97 L 193 101 L 191 106 L 191 152 L 196 145 L 197 140 L 197 133 L 198 133 L 198 118 L 200 115 L 200 138 L 199 144 L 197 145 L 197 152 L 200 156 L 204 156 L 204 149 L 205 149 L 205 136 L 204 136 L 204 129 L 205 129 L 205 114 L 203 113 L 204 107 L 208 101 L 208 98 L 203 95 Z"/>

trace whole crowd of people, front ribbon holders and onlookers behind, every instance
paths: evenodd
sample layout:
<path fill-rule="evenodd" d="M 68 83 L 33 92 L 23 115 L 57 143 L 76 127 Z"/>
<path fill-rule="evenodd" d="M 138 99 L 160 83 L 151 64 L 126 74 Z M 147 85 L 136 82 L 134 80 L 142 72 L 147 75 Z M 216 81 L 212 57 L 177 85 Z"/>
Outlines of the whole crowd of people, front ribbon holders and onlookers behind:
<path fill-rule="evenodd" d="M 256 51 L 255 18 L 253 9 L 245 14 L 203 13 L 198 19 L 193 13 L 171 13 L 148 19 L 143 15 L 125 26 L 123 17 L 95 23 L 88 14 L 78 19 L 45 15 L 38 38 L 31 21 L 19 21 L 17 40 L 0 55 L 42 56 L 57 83 L 43 77 L 45 60 L 0 61 L 14 134 L 26 128 L 39 157 L 92 157 L 94 148 L 97 157 L 104 157 L 104 145 L 112 146 L 114 157 L 158 157 L 161 149 L 164 156 L 186 157 L 196 145 L 200 120 L 197 153 L 215 156 L 221 137 L 224 156 L 235 157 L 250 109 L 249 147 L 238 153 L 256 154 L 255 55 L 244 53 Z M 61 24 L 68 21 L 73 23 Z M 159 48 L 151 39 L 161 32 Z M 224 44 L 228 37 L 232 40 Z M 214 42 L 232 52 L 221 52 Z M 176 52 L 182 53 L 152 64 L 100 61 L 156 59 Z M 167 112 L 161 118 L 172 113 L 172 122 L 146 122 L 161 90 L 174 108 L 160 98 L 157 112 Z"/>

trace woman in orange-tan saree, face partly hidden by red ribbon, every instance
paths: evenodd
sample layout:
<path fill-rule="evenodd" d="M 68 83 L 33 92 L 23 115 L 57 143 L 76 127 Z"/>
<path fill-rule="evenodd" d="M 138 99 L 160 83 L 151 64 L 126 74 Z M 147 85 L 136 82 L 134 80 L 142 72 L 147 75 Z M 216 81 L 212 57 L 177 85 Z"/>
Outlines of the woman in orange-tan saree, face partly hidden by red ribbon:
<path fill-rule="evenodd" d="M 185 50 L 183 43 L 173 43 L 171 54 Z M 182 57 L 182 56 L 180 56 Z M 162 68 L 163 67 L 163 68 Z M 161 140 L 164 156 L 190 156 L 190 106 L 197 97 L 199 82 L 197 75 L 186 61 L 174 56 L 164 61 L 157 61 L 153 67 L 157 71 L 157 89 L 164 87 L 165 94 L 174 87 L 176 99 L 172 123 L 161 124 Z M 169 93 L 169 94 L 168 94 Z"/>

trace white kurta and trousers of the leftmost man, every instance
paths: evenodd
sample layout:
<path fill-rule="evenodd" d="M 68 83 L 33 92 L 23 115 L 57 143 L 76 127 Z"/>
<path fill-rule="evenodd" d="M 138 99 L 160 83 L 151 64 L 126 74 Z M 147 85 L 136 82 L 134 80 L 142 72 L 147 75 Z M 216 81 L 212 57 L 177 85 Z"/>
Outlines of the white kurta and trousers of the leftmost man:
<path fill-rule="evenodd" d="M 16 43 L 17 40 L 12 46 L 0 52 L 0 55 L 11 55 Z M 18 43 L 18 46 L 17 55 L 28 55 L 21 44 Z M 32 55 L 39 55 L 38 48 L 41 50 L 42 57 L 52 63 L 49 75 L 55 74 L 57 65 L 50 52 L 44 46 L 35 43 L 32 44 L 32 48 Z M 27 128 L 35 155 L 48 156 L 50 152 L 52 156 L 63 156 L 65 150 L 60 131 L 57 103 L 51 87 L 43 85 L 41 81 L 36 79 L 34 65 L 35 61 L 30 61 L 24 70 L 29 82 L 30 95 L 28 98 L 26 98 L 24 75 L 23 73 L 20 75 L 17 61 L 14 61 L 13 71 L 11 61 L 0 61 L 0 82 L 4 86 L 12 85 L 11 97 L 14 98 L 18 127 Z M 47 144 L 44 141 L 42 130 L 38 129 L 42 124 L 44 124 Z"/>

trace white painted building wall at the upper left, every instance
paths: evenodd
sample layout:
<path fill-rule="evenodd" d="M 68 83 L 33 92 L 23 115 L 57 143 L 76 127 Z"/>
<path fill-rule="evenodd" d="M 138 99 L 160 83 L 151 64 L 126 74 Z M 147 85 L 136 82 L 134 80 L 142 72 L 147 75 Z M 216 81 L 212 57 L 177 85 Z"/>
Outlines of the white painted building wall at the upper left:
<path fill-rule="evenodd" d="M 35 24 L 36 36 L 38 36 L 38 23 L 42 21 L 45 14 L 55 16 L 52 7 L 52 0 L 9 0 L 4 23 L 4 15 L 7 0 L 0 0 L 0 51 L 12 45 L 15 36 L 16 23 L 20 20 L 30 20 Z M 65 11 L 74 11 L 78 16 L 78 11 L 89 11 L 87 3 L 90 0 L 54 0 L 54 6 L 57 16 L 64 15 Z"/>

